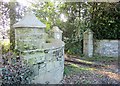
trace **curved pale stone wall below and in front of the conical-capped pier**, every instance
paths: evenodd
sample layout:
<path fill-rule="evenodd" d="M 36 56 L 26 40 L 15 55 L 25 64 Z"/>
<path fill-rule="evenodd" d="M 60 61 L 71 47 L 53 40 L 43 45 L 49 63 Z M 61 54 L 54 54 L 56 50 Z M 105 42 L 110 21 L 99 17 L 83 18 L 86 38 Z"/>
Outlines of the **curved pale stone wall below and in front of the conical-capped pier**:
<path fill-rule="evenodd" d="M 23 61 L 31 65 L 34 71 L 31 83 L 58 84 L 62 80 L 64 72 L 64 47 L 41 50 L 29 54 L 25 52 L 22 57 L 24 57 Z"/>

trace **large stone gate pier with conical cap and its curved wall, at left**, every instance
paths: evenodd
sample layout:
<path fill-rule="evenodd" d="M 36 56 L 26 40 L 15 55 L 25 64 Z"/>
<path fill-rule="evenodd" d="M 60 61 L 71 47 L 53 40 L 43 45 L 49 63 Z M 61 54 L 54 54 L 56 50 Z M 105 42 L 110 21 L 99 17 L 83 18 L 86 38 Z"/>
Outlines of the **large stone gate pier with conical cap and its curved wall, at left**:
<path fill-rule="evenodd" d="M 55 26 L 49 36 L 46 25 L 33 13 L 27 13 L 14 28 L 15 48 L 20 52 L 22 64 L 34 71 L 30 83 L 58 84 L 64 72 L 62 31 Z"/>

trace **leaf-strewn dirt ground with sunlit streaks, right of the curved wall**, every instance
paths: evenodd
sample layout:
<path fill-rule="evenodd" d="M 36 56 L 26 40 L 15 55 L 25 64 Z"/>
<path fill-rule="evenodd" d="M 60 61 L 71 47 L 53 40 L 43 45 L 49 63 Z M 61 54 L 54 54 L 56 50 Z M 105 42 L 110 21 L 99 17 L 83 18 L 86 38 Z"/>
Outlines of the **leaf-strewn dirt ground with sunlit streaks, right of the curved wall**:
<path fill-rule="evenodd" d="M 65 61 L 64 79 L 61 84 L 120 84 L 120 70 L 116 60 L 94 63 L 78 60 L 81 58 L 68 59 L 69 61 Z"/>

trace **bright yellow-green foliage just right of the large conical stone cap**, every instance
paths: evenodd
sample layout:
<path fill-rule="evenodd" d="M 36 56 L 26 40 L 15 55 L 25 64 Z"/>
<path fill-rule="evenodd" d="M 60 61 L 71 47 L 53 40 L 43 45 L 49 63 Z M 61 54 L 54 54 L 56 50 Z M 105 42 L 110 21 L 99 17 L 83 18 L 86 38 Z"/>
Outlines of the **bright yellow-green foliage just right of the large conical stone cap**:
<path fill-rule="evenodd" d="M 59 23 L 59 10 L 53 2 L 40 2 L 32 4 L 33 11 L 36 16 L 46 24 L 46 31 L 52 28 L 53 25 Z"/>

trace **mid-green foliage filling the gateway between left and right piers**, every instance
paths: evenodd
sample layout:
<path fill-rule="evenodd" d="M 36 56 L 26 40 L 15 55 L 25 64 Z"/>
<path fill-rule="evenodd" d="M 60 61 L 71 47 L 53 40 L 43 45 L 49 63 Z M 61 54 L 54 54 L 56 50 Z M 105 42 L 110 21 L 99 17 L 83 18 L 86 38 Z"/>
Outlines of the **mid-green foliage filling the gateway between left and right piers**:
<path fill-rule="evenodd" d="M 82 53 L 83 32 L 86 28 L 84 21 L 81 21 L 80 19 L 81 9 L 79 6 L 81 4 L 83 3 L 67 2 L 63 7 L 61 7 L 61 12 L 64 12 L 64 14 L 67 15 L 68 20 L 59 26 L 64 31 L 63 40 L 66 43 L 65 51 L 69 54 Z"/>

